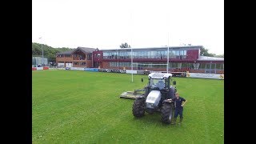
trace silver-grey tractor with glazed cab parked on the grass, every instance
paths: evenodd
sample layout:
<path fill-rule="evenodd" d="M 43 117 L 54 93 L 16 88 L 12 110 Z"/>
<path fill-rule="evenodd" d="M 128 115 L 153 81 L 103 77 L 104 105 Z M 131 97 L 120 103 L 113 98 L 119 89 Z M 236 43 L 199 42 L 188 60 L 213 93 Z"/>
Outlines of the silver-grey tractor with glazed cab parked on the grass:
<path fill-rule="evenodd" d="M 168 100 L 174 98 L 176 90 L 176 81 L 172 82 L 172 74 L 169 73 L 151 73 L 148 75 L 148 84 L 144 87 L 144 94 L 139 95 L 133 104 L 134 117 L 140 118 L 154 112 L 161 112 L 163 123 L 170 124 L 174 115 L 174 102 Z M 143 78 L 142 78 L 143 82 Z"/>

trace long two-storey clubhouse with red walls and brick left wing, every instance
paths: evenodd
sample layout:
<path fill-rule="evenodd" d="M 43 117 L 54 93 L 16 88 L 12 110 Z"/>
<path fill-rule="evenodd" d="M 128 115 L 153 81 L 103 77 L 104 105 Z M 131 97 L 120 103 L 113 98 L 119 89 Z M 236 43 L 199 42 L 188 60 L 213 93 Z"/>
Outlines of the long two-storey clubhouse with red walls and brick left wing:
<path fill-rule="evenodd" d="M 224 74 L 224 58 L 200 56 L 202 46 L 170 46 L 169 70 L 190 71 L 191 73 Z M 85 67 L 102 69 L 166 71 L 168 47 L 117 48 L 98 50 L 78 47 L 56 54 L 61 67 Z"/>

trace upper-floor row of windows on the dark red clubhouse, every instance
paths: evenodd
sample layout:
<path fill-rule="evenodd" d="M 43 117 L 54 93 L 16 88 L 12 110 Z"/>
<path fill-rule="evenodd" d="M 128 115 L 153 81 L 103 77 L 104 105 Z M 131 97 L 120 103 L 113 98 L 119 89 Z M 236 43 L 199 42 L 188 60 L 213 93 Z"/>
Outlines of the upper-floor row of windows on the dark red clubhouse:
<path fill-rule="evenodd" d="M 104 59 L 117 59 L 118 56 L 121 59 L 130 58 L 130 51 L 104 51 Z M 186 58 L 186 50 L 170 50 L 169 58 Z M 166 51 L 133 51 L 133 58 L 167 58 Z"/>

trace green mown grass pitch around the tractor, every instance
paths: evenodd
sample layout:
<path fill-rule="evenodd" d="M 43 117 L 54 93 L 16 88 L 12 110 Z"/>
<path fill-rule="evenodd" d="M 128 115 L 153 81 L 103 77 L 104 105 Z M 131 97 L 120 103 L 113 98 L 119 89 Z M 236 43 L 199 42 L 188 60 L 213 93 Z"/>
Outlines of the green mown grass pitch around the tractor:
<path fill-rule="evenodd" d="M 78 70 L 32 71 L 33 143 L 224 143 L 224 80 L 173 78 L 186 98 L 182 125 L 161 114 L 134 118 L 134 99 L 146 75 Z M 179 118 L 178 118 L 179 120 Z"/>

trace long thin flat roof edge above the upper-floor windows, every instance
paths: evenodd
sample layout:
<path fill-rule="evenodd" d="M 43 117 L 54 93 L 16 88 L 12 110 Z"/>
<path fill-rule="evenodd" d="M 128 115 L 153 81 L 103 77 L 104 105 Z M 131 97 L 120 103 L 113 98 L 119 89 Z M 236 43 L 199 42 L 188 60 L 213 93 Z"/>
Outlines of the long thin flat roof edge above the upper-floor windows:
<path fill-rule="evenodd" d="M 191 49 L 200 49 L 200 47 L 203 46 L 169 46 L 169 50 L 170 49 L 181 49 L 181 48 L 191 48 Z M 148 49 L 167 49 L 167 46 L 157 46 L 157 47 L 141 47 L 141 48 L 114 48 L 114 49 L 102 49 L 102 51 L 106 51 L 106 50 L 148 50 Z"/>

